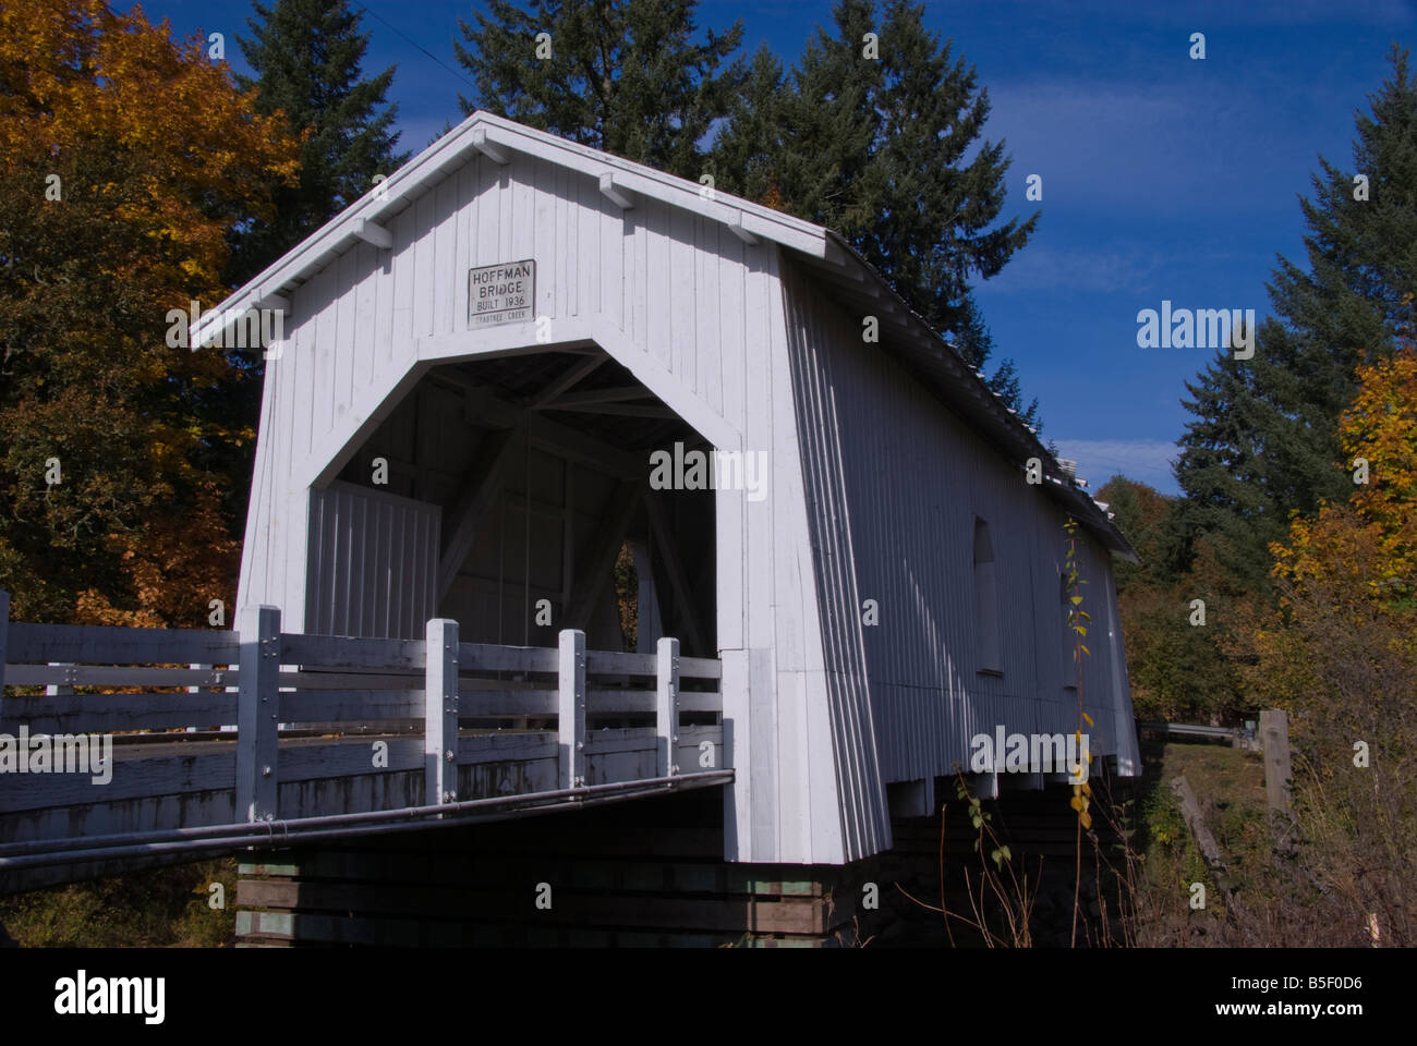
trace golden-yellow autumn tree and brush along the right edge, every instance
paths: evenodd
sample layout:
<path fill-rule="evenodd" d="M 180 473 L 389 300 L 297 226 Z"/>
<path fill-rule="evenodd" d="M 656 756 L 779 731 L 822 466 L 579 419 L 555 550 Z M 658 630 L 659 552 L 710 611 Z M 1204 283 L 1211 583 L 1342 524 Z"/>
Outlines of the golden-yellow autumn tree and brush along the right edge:
<path fill-rule="evenodd" d="M 1411 295 L 1408 295 L 1408 299 Z M 1280 604 L 1230 653 L 1246 696 L 1289 713 L 1298 863 L 1360 943 L 1417 941 L 1417 344 L 1359 367 L 1338 466 L 1348 503 L 1275 543 Z"/>

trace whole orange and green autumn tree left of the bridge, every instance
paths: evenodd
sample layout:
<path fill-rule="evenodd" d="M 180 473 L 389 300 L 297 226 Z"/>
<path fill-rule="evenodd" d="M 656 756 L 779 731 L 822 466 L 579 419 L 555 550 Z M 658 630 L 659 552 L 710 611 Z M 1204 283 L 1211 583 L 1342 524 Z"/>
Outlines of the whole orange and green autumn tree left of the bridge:
<path fill-rule="evenodd" d="M 0 588 L 20 619 L 207 625 L 247 371 L 167 344 L 225 296 L 298 143 L 200 38 L 98 0 L 0 6 Z"/>

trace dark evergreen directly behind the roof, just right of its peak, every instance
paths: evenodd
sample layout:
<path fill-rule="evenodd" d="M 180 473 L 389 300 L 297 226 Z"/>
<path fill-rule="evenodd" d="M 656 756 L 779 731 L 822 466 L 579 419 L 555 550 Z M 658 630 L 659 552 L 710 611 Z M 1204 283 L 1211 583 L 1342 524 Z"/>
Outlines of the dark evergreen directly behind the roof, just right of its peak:
<path fill-rule="evenodd" d="M 696 43 L 697 0 L 492 0 L 476 26 L 458 27 L 458 61 L 486 109 L 699 180 L 699 142 L 743 84 L 743 60 L 724 64 L 743 24 Z M 546 35 L 541 35 L 546 34 Z M 720 68 L 721 67 L 721 68 Z"/>

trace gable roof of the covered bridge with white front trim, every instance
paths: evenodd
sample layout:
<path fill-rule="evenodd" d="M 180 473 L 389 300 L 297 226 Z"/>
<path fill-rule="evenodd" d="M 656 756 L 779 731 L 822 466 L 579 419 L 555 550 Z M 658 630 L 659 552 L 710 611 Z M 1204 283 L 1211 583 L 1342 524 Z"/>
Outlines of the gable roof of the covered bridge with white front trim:
<path fill-rule="evenodd" d="M 982 373 L 972 371 L 958 349 L 910 309 L 881 274 L 840 235 L 771 207 L 726 193 L 704 191 L 703 186 L 687 179 L 480 109 L 234 291 L 214 310 L 204 313 L 191 334 L 191 344 L 208 343 L 247 309 L 288 308 L 290 291 L 359 242 L 380 242 L 381 237 L 387 237 L 381 223 L 411 207 L 468 160 L 486 154 L 502 163 L 512 152 L 597 179 L 601 191 L 611 198 L 643 196 L 720 221 L 747 242 L 767 240 L 779 244 L 813 275 L 832 282 L 843 300 L 883 313 L 881 326 L 888 326 L 896 334 L 888 342 L 883 340 L 883 346 L 888 346 L 917 378 L 971 421 L 1012 462 L 1020 468 L 1029 458 L 1043 462 L 1047 473 L 1044 493 L 1060 502 L 1110 550 L 1138 561 L 1136 551 L 1112 524 L 1111 514 L 1063 473 L 1037 432 L 1006 407 Z M 380 245 L 387 247 L 387 242 Z"/>

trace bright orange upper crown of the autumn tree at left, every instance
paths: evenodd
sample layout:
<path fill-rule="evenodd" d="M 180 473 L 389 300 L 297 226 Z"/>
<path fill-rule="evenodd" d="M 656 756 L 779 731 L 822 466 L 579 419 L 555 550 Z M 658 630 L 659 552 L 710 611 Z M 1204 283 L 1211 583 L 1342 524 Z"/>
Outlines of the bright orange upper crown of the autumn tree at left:
<path fill-rule="evenodd" d="M 241 208 L 269 217 L 252 176 L 293 181 L 283 120 L 255 115 L 251 102 L 200 37 L 176 44 L 169 23 L 150 26 L 140 6 L 0 6 L 0 164 L 60 174 L 64 200 L 102 208 L 129 249 L 88 244 L 95 264 L 164 308 L 222 292 L 227 220 Z M 41 179 L 31 206 L 43 208 L 44 189 Z"/>

